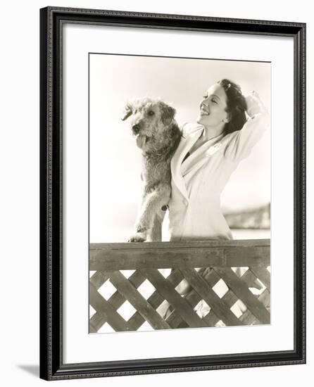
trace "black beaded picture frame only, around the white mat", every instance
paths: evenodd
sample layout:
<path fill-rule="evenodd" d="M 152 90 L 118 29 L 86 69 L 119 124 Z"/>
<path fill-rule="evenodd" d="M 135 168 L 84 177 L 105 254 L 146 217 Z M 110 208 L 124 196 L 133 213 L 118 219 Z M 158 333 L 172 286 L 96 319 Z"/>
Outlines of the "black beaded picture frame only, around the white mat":
<path fill-rule="evenodd" d="M 294 39 L 294 350 L 63 363 L 62 25 L 117 25 Z M 40 377 L 46 380 L 306 362 L 306 24 L 47 7 L 40 10 Z"/>

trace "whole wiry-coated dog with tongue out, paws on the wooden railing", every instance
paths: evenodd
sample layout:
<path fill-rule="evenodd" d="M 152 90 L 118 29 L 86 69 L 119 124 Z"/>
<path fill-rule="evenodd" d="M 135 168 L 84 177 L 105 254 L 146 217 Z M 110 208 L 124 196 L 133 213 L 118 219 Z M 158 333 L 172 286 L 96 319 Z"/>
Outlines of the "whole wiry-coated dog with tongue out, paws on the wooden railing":
<path fill-rule="evenodd" d="M 171 194 L 170 161 L 182 132 L 174 119 L 175 109 L 158 99 L 127 103 L 122 120 L 129 117 L 137 146 L 142 149 L 144 181 L 142 205 L 129 241 L 161 241 L 161 224 Z"/>

